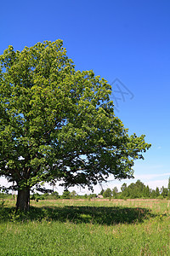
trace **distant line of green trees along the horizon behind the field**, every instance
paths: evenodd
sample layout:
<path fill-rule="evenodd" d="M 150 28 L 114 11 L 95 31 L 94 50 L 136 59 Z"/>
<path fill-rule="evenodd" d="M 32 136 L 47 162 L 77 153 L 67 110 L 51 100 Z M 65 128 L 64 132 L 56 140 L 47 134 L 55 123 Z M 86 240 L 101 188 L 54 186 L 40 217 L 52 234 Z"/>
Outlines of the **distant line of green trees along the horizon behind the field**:
<path fill-rule="evenodd" d="M 131 183 L 127 186 L 127 183 L 123 183 L 121 187 L 121 192 L 115 187 L 113 189 L 102 189 L 99 195 L 102 195 L 103 198 L 112 198 L 112 199 L 135 199 L 135 198 L 158 198 L 163 199 L 167 198 L 170 199 L 170 177 L 168 179 L 168 186 L 164 188 L 163 186 L 161 189 L 158 187 L 156 189 L 150 189 L 147 185 L 145 186 L 140 180 L 136 183 Z M 14 198 L 14 196 L 12 195 Z M 39 200 L 56 200 L 56 199 L 93 199 L 98 197 L 97 194 L 85 194 L 85 195 L 78 195 L 75 190 L 69 191 L 65 189 L 62 195 L 59 195 L 57 191 L 50 192 L 50 193 L 43 193 L 38 194 L 34 193 L 31 195 L 31 200 L 39 201 Z M 0 188 L 0 198 L 11 198 L 11 194 L 8 194 L 7 191 Z"/>

